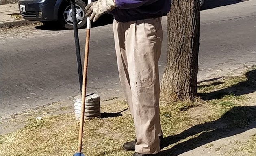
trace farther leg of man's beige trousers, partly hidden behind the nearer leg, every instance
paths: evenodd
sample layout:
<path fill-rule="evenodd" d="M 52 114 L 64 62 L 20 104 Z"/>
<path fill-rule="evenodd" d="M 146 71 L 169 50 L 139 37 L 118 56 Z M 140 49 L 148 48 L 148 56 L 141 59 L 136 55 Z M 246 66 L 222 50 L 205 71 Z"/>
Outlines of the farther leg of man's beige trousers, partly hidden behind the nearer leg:
<path fill-rule="evenodd" d="M 120 82 L 129 105 L 132 117 L 133 117 L 133 104 L 132 93 L 130 87 L 130 78 L 128 73 L 127 55 L 125 48 L 125 30 L 123 26 L 119 26 L 119 22 L 114 20 L 113 22 L 115 49 L 117 55 L 117 67 L 119 72 Z"/>

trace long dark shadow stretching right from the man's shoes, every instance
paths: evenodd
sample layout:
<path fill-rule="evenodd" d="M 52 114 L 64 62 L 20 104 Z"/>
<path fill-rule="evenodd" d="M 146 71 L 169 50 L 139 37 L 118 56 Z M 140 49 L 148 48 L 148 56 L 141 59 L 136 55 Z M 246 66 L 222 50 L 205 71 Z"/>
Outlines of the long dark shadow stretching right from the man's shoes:
<path fill-rule="evenodd" d="M 253 122 L 256 121 L 255 114 L 256 106 L 237 106 L 216 121 L 199 124 L 178 135 L 165 137 L 164 141 L 171 145 L 189 136 L 199 134 L 197 137 L 178 143 L 171 149 L 162 151 L 161 156 L 177 156 L 212 141 L 255 128 L 256 122 Z"/>

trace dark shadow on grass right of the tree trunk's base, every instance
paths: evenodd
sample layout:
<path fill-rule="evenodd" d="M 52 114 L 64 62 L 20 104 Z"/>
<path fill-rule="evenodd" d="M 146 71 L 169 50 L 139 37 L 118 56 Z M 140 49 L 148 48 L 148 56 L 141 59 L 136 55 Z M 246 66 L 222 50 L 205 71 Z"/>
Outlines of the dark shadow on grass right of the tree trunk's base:
<path fill-rule="evenodd" d="M 201 96 L 204 100 L 212 100 L 222 98 L 224 95 L 228 94 L 240 96 L 256 91 L 256 70 L 247 72 L 245 76 L 247 78 L 246 81 L 239 82 L 238 84 L 233 85 L 231 87 L 221 89 L 218 91 L 213 91 L 211 93 L 202 93 L 199 96 Z"/>

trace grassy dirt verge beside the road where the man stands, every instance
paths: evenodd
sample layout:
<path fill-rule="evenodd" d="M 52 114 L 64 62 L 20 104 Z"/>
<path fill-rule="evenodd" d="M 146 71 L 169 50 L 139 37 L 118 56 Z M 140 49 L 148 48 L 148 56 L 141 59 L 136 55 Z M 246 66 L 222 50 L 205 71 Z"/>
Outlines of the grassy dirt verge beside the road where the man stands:
<path fill-rule="evenodd" d="M 198 92 L 195 102 L 161 101 L 167 143 L 161 156 L 256 156 L 256 70 L 202 82 Z M 126 102 L 114 98 L 101 105 L 102 118 L 85 121 L 83 153 L 131 156 L 121 149 L 135 138 Z M 57 102 L 1 121 L 0 155 L 72 155 L 78 138 L 73 111 L 72 102 Z"/>

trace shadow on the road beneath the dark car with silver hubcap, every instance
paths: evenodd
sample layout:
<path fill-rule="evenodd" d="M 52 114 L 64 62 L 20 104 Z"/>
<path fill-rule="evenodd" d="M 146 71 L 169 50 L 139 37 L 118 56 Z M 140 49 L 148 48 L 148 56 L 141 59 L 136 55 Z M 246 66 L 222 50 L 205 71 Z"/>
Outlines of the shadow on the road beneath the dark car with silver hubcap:
<path fill-rule="evenodd" d="M 113 16 L 106 14 L 100 17 L 96 22 L 91 23 L 91 28 L 98 27 L 98 26 L 104 26 L 113 23 Z M 53 22 L 49 25 L 41 25 L 41 26 L 35 26 L 36 29 L 40 30 L 50 30 L 50 31 L 61 31 L 61 30 L 67 30 L 60 26 L 57 22 Z"/>

